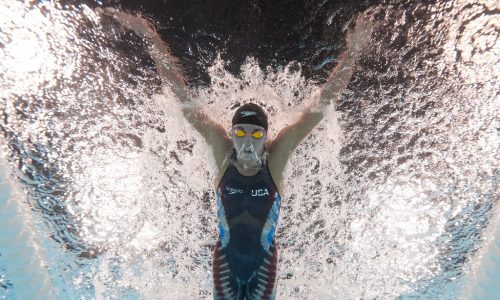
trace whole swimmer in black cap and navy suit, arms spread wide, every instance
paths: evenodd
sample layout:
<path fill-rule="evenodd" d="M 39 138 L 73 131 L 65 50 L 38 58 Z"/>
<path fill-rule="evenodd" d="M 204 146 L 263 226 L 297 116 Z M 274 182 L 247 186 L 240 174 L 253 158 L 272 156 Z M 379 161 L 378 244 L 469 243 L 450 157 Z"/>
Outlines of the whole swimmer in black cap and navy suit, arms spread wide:
<path fill-rule="evenodd" d="M 219 238 L 213 253 L 214 299 L 274 299 L 278 252 L 275 232 L 281 205 L 283 172 L 300 142 L 323 119 L 352 76 L 357 58 L 370 39 L 371 24 L 360 17 L 348 35 L 342 59 L 321 88 L 319 101 L 295 124 L 268 141 L 268 119 L 257 104 L 239 107 L 229 134 L 189 99 L 185 80 L 168 47 L 146 20 L 107 10 L 122 25 L 146 37 L 164 84 L 184 104 L 186 120 L 212 148 L 218 168 L 216 201 Z M 269 150 L 267 150 L 269 149 Z"/>

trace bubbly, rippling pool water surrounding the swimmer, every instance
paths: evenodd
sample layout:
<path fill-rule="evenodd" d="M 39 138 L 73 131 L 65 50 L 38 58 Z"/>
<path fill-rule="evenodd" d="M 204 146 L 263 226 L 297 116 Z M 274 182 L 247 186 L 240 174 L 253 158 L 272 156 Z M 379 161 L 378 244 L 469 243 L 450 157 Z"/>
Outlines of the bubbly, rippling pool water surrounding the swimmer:
<path fill-rule="evenodd" d="M 7 0 L 0 299 L 212 297 L 209 147 L 151 45 L 104 7 L 151 20 L 228 129 L 261 104 L 271 138 L 355 17 L 373 18 L 347 90 L 287 167 L 277 298 L 492 297 L 477 286 L 500 224 L 496 1 Z"/>

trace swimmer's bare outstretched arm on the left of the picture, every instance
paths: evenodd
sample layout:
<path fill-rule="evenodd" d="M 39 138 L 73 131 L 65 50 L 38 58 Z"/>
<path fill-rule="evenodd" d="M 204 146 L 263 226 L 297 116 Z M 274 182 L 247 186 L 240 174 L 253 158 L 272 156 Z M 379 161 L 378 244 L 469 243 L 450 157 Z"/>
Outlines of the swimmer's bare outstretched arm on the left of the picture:
<path fill-rule="evenodd" d="M 186 79 L 177 65 L 177 60 L 170 53 L 170 49 L 163 42 L 154 26 L 146 19 L 108 8 L 104 11 L 112 16 L 124 27 L 133 30 L 137 35 L 145 37 L 153 44 L 151 57 L 162 78 L 164 86 L 168 86 L 182 104 L 182 113 L 191 125 L 203 136 L 210 145 L 219 171 L 227 152 L 231 149 L 226 130 L 215 122 L 201 106 L 191 100 L 186 86 Z"/>

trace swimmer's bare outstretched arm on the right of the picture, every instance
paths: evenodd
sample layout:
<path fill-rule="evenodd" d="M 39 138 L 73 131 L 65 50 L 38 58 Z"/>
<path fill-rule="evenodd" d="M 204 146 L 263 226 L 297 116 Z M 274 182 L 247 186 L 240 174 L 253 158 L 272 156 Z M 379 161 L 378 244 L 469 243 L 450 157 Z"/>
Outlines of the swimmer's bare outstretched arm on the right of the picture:
<path fill-rule="evenodd" d="M 348 36 L 348 49 L 322 86 L 319 99 L 302 113 L 296 123 L 283 128 L 272 142 L 268 161 L 271 174 L 278 185 L 283 180 L 283 171 L 295 148 L 318 125 L 330 103 L 337 100 L 349 84 L 356 60 L 370 38 L 370 25 L 370 22 L 362 18 L 357 20 L 356 28 Z"/>

